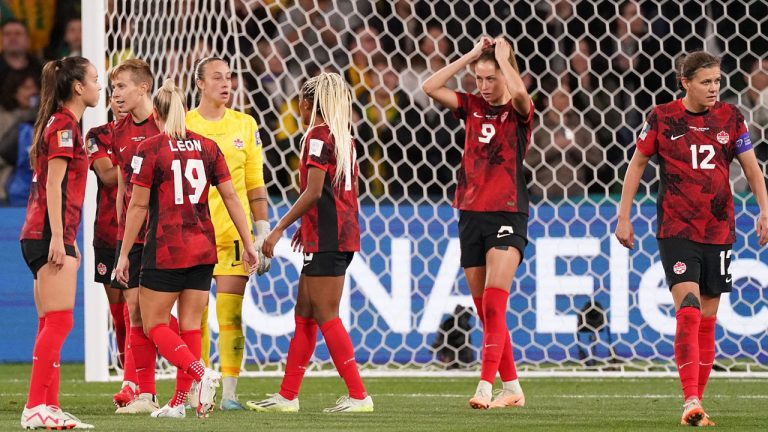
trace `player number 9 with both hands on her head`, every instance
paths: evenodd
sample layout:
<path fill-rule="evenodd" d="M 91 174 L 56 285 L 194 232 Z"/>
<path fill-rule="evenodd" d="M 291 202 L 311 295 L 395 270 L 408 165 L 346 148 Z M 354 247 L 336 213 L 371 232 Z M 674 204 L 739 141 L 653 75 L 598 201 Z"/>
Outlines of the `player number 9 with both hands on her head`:
<path fill-rule="evenodd" d="M 480 96 L 446 82 L 473 64 Z M 461 266 L 483 323 L 480 382 L 469 405 L 475 409 L 522 406 L 507 303 L 512 280 L 528 244 L 528 190 L 523 159 L 533 129 L 533 102 L 506 39 L 482 38 L 475 48 L 440 69 L 424 92 L 464 119 L 466 138 L 453 206 L 459 209 Z M 492 400 L 498 371 L 502 392 Z"/>

